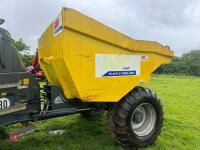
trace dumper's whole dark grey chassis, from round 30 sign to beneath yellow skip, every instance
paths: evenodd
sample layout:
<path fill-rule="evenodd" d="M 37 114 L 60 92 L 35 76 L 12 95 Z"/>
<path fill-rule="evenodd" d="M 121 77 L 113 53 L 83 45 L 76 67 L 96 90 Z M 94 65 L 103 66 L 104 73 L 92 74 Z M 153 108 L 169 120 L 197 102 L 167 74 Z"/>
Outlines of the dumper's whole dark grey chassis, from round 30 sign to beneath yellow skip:
<path fill-rule="evenodd" d="M 54 85 L 40 88 L 39 81 L 27 72 L 0 73 L 0 127 L 104 109 L 105 104 L 66 99 Z"/>

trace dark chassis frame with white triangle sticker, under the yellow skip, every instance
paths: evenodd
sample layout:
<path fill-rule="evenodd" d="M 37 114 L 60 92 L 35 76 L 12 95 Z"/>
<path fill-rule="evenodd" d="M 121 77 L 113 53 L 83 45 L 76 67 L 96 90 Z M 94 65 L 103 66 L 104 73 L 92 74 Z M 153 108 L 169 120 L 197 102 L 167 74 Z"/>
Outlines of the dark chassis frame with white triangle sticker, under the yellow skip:
<path fill-rule="evenodd" d="M 105 103 L 85 103 L 79 99 L 66 99 L 63 91 L 55 85 L 44 86 L 45 101 L 40 114 L 34 115 L 37 120 L 45 120 L 59 116 L 105 109 Z"/>

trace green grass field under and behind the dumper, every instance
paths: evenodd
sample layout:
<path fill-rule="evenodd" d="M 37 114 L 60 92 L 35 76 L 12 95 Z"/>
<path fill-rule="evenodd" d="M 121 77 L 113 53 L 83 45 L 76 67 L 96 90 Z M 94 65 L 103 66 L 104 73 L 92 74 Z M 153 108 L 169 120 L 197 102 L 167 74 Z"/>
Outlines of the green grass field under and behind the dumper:
<path fill-rule="evenodd" d="M 161 98 L 165 110 L 162 133 L 149 150 L 200 149 L 200 78 L 153 76 L 145 85 Z M 38 131 L 19 142 L 1 142 L 3 150 L 121 150 L 106 127 L 106 116 L 88 121 L 80 115 L 35 123 Z M 10 126 L 16 128 L 18 125 Z M 49 135 L 65 129 L 63 135 Z"/>

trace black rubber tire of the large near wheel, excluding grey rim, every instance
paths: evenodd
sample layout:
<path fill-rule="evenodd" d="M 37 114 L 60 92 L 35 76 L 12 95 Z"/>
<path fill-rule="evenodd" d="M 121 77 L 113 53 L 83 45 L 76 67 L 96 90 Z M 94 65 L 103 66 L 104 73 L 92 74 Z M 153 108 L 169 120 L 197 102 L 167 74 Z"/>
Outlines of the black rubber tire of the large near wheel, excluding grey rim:
<path fill-rule="evenodd" d="M 156 112 L 156 123 L 146 136 L 137 136 L 131 128 L 131 114 L 143 103 L 151 104 Z M 116 141 L 124 147 L 141 148 L 154 143 L 163 126 L 163 107 L 160 98 L 151 90 L 136 87 L 108 112 L 108 127 Z"/>

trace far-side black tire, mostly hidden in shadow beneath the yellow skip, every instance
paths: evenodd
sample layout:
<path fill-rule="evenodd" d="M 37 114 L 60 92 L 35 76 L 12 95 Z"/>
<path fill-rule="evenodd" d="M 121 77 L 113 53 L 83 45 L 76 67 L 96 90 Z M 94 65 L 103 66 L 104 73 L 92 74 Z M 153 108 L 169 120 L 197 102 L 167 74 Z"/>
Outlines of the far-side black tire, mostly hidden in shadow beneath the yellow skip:
<path fill-rule="evenodd" d="M 81 112 L 82 117 L 86 119 L 97 119 L 101 117 L 102 114 L 103 114 L 103 110 L 89 110 L 89 111 Z"/>

